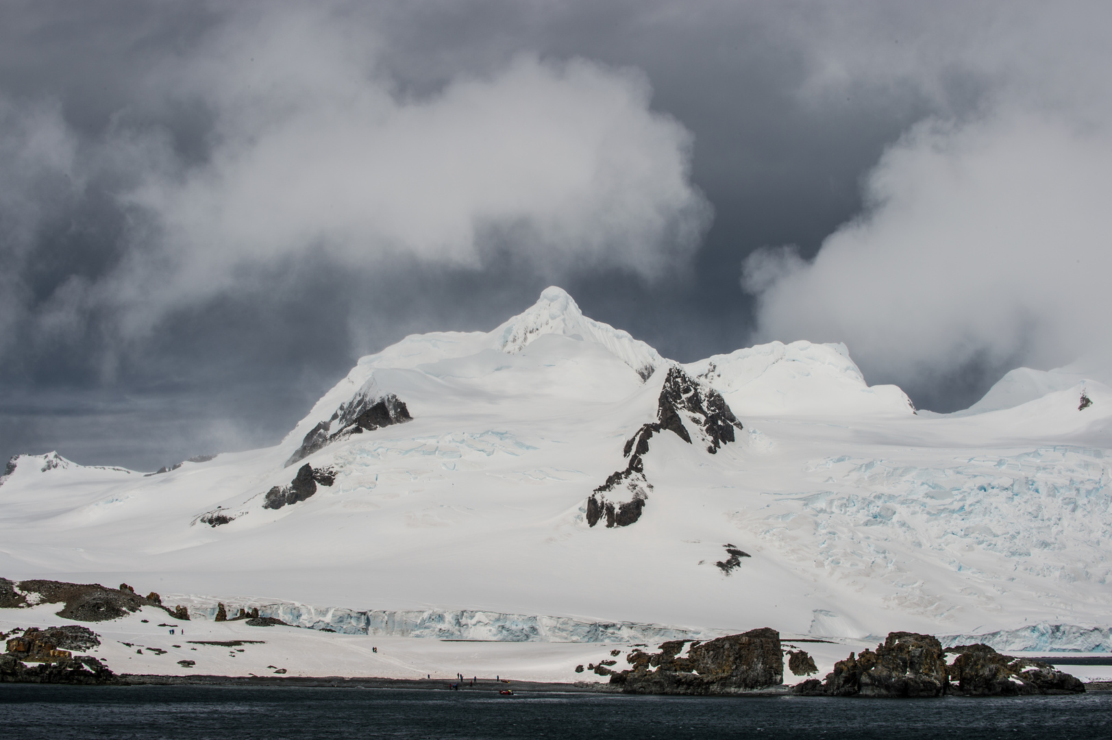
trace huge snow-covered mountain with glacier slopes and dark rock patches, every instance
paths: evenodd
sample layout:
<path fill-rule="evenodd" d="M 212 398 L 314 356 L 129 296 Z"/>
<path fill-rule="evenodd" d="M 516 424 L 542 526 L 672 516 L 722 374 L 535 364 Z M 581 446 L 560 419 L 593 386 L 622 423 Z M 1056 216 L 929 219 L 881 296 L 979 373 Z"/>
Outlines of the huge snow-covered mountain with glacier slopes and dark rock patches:
<path fill-rule="evenodd" d="M 916 415 L 807 342 L 683 365 L 548 288 L 361 358 L 275 447 L 147 475 L 13 458 L 0 574 L 348 626 L 1106 635 L 1112 391 L 1030 395 Z"/>

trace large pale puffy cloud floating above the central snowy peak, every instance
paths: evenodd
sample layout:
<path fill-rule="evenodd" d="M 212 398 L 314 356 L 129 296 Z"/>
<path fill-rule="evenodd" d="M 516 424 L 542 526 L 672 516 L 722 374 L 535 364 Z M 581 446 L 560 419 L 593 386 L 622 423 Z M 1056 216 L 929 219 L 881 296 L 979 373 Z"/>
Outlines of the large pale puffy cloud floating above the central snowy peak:
<path fill-rule="evenodd" d="M 477 267 L 493 234 L 540 268 L 653 279 L 709 220 L 691 135 L 649 109 L 634 70 L 523 56 L 413 97 L 339 20 L 274 12 L 152 80 L 210 110 L 215 134 L 202 165 L 152 168 L 129 195 L 158 239 L 110 292 L 142 306 L 140 323 L 252 265 L 312 251 Z"/>

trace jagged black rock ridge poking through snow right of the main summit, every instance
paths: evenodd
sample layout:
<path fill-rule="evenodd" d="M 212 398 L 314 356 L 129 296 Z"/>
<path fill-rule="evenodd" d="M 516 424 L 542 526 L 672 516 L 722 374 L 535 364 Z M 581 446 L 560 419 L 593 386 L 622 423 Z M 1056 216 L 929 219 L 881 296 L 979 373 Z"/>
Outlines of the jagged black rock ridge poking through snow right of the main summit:
<path fill-rule="evenodd" d="M 686 420 L 686 421 L 685 421 Z M 628 526 L 641 519 L 653 485 L 645 478 L 644 455 L 648 453 L 648 441 L 654 434 L 669 431 L 688 444 L 692 442 L 687 425 L 697 430 L 701 444 L 711 454 L 735 441 L 734 430 L 742 428 L 722 395 L 709 387 L 699 385 L 679 367 L 673 367 L 664 378 L 657 399 L 656 421 L 643 424 L 626 440 L 623 454 L 628 458 L 625 470 L 615 471 L 606 482 L 595 489 L 587 499 L 586 517 L 589 526 L 605 521 L 607 527 Z M 625 491 L 620 499 L 607 493 Z"/>

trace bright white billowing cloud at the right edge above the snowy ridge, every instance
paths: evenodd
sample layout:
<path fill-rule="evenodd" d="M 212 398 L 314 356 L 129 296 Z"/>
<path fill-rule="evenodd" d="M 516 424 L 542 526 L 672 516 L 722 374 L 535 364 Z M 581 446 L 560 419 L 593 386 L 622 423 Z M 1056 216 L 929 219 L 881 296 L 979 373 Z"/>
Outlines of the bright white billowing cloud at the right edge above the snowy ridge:
<path fill-rule="evenodd" d="M 1112 349 L 1112 137 L 1001 108 L 929 120 L 871 172 L 865 211 L 813 262 L 744 265 L 765 337 L 845 342 L 866 372 L 924 379 L 971 361 L 1054 367 Z"/>

